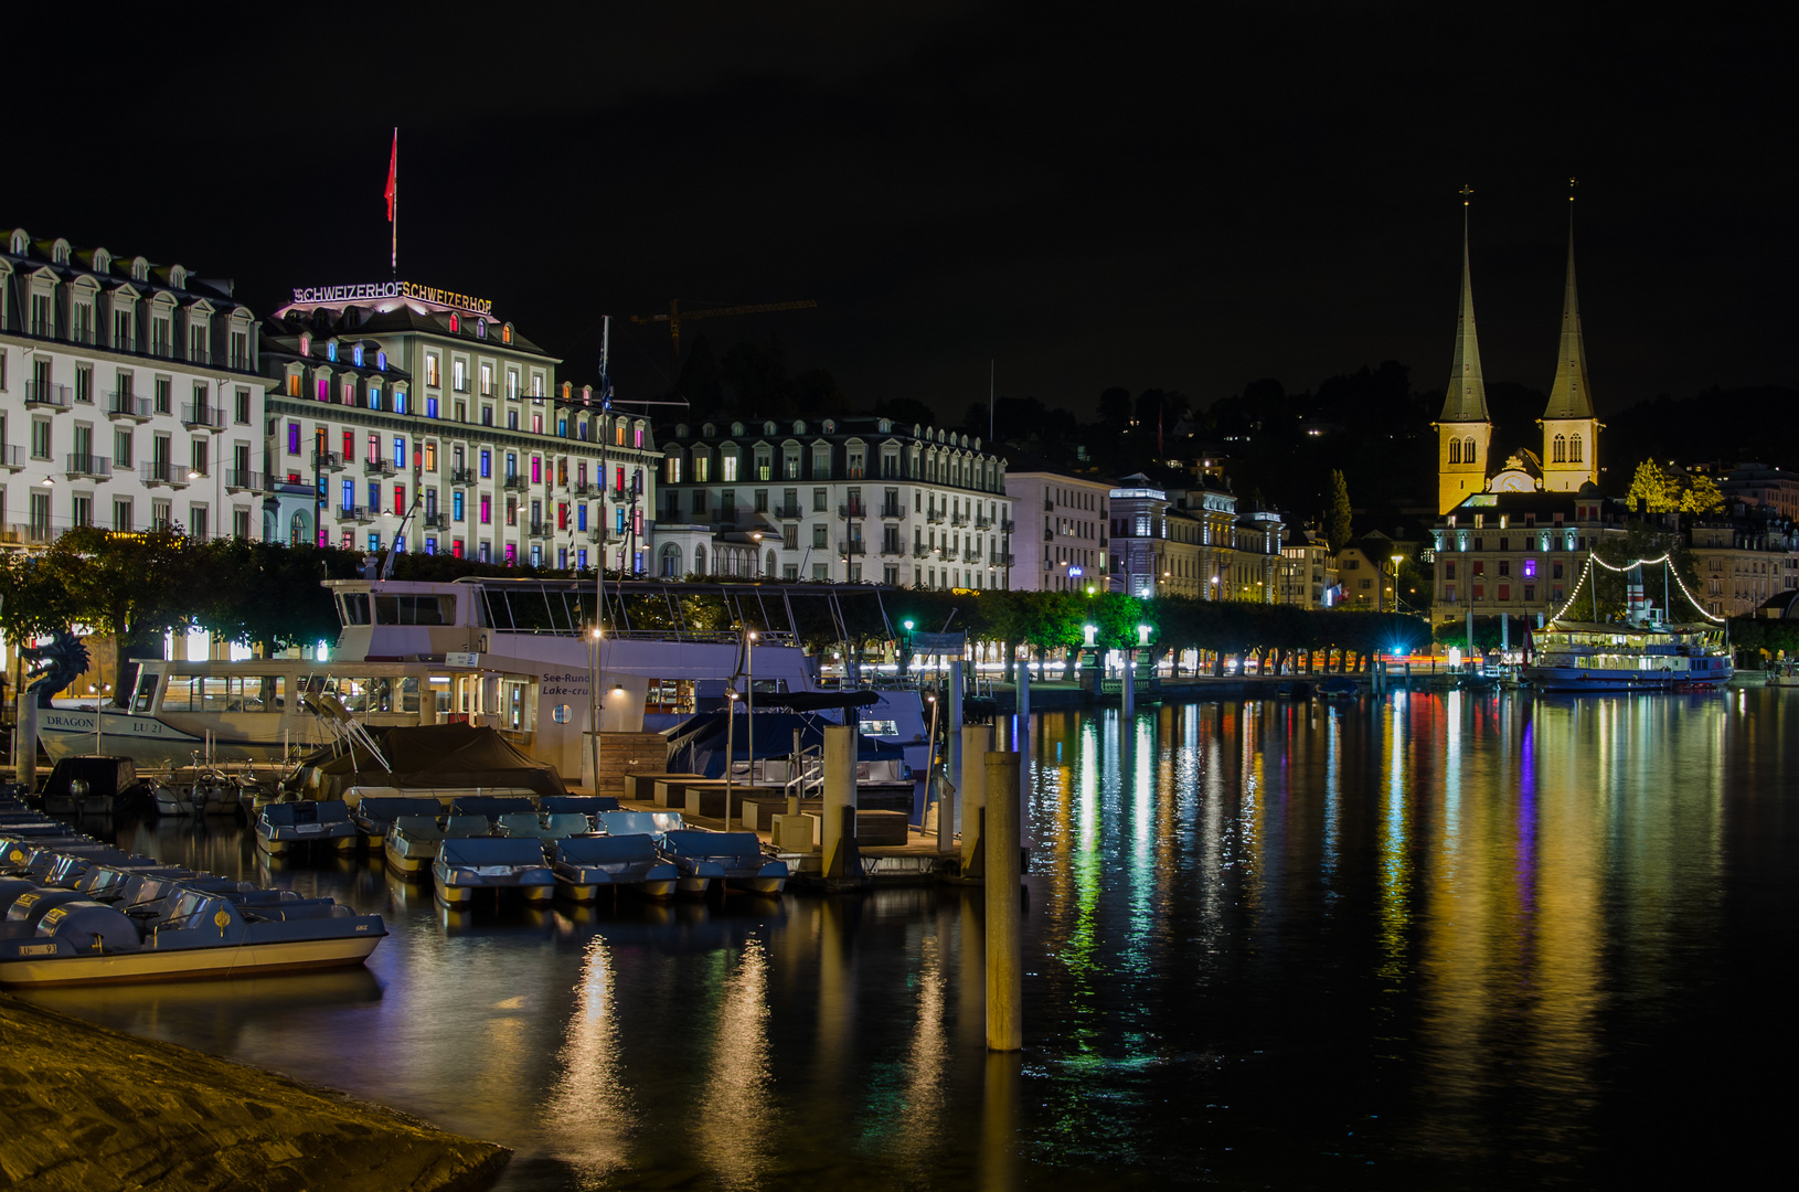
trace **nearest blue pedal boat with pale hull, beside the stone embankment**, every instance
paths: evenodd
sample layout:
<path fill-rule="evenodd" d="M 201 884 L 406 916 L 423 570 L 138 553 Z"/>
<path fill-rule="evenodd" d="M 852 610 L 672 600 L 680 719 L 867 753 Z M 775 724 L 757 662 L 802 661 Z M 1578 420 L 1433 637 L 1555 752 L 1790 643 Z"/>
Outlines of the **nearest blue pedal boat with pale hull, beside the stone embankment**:
<path fill-rule="evenodd" d="M 67 894 L 41 913 L 29 937 L 0 938 L 0 985 L 248 976 L 362 964 L 387 935 L 380 915 L 356 915 L 331 899 L 252 906 L 223 894 L 182 890 L 167 917 L 140 928 L 115 906 L 76 890 Z"/>

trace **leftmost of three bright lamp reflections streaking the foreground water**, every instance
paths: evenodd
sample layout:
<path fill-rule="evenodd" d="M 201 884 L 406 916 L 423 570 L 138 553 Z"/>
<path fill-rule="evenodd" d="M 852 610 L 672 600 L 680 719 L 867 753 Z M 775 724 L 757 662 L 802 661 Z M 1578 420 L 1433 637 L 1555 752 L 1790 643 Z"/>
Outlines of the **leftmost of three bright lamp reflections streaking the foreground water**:
<path fill-rule="evenodd" d="M 556 1057 L 561 1075 L 543 1106 L 550 1147 L 583 1187 L 597 1187 L 624 1167 L 628 1142 L 637 1127 L 619 1059 L 613 982 L 606 940 L 594 937 L 581 965 L 579 1003 Z"/>

